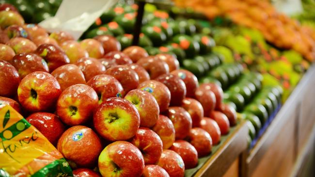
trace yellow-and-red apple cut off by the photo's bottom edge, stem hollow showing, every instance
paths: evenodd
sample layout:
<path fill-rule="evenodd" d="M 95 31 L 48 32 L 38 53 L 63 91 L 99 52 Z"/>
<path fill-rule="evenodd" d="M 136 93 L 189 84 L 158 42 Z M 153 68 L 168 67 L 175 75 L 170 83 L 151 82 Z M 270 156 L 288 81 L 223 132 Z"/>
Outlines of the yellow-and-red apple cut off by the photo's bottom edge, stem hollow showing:
<path fill-rule="evenodd" d="M 98 157 L 103 177 L 141 177 L 144 160 L 138 148 L 126 141 L 116 141 L 103 149 Z"/>

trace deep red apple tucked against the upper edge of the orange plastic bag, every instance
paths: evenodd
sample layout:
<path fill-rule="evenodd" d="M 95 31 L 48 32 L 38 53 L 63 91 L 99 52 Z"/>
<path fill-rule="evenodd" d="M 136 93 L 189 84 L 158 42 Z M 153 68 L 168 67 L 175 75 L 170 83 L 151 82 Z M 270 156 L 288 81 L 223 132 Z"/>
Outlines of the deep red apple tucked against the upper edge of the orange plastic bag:
<path fill-rule="evenodd" d="M 51 113 L 33 113 L 26 120 L 39 130 L 54 146 L 57 145 L 60 136 L 65 131 L 65 126 L 60 118 Z"/>

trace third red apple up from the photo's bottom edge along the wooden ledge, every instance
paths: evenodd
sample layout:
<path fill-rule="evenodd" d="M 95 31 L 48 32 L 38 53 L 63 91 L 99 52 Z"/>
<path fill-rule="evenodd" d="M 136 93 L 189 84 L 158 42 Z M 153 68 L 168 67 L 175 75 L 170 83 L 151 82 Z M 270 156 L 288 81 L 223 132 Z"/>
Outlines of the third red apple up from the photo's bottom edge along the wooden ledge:
<path fill-rule="evenodd" d="M 198 152 L 189 142 L 176 140 L 170 150 L 180 155 L 184 161 L 185 169 L 196 167 L 198 163 Z"/>

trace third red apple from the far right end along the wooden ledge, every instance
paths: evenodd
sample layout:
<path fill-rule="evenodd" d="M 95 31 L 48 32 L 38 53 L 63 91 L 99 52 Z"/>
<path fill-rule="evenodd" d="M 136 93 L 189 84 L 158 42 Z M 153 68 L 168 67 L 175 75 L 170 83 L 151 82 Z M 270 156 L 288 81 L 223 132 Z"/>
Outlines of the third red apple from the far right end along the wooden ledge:
<path fill-rule="evenodd" d="M 213 145 L 218 144 L 221 139 L 221 131 L 218 123 L 215 120 L 206 117 L 204 117 L 200 123 L 200 127 L 210 134 Z"/>

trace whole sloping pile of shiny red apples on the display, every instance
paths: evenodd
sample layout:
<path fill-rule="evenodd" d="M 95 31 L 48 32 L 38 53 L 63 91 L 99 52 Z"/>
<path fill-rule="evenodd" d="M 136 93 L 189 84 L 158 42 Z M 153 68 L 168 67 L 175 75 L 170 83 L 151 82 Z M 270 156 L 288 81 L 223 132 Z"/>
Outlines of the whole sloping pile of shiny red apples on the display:
<path fill-rule="evenodd" d="M 43 133 L 76 177 L 183 177 L 236 124 L 222 89 L 199 86 L 173 55 L 48 34 L 2 7 L 0 105 Z"/>

